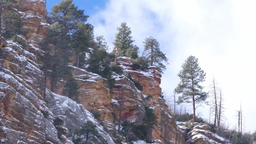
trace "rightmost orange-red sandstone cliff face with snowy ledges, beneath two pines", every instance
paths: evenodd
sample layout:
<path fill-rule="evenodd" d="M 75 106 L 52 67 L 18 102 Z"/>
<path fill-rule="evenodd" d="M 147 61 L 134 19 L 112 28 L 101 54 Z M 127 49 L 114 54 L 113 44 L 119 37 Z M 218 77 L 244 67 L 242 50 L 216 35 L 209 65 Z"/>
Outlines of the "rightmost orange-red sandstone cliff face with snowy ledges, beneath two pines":
<path fill-rule="evenodd" d="M 144 112 L 144 106 L 151 107 L 155 110 L 155 115 L 158 117 L 158 125 L 152 129 L 151 138 L 153 140 L 161 140 L 165 144 L 184 144 L 186 139 L 186 131 L 180 130 L 175 120 L 171 117 L 171 113 L 168 110 L 168 106 L 165 104 L 161 95 L 161 74 L 157 71 L 157 68 L 152 67 L 146 72 L 141 70 L 132 70 L 131 58 L 119 57 L 117 64 L 124 68 L 124 73 L 131 75 L 134 80 L 137 80 L 143 86 L 143 91 L 138 91 L 138 95 L 143 95 L 140 98 L 144 103 L 141 103 L 139 107 Z M 151 95 L 152 99 L 144 99 L 144 97 Z M 133 115 L 133 114 L 130 114 Z M 144 114 L 143 114 L 144 115 Z M 141 120 L 141 114 L 139 114 L 138 120 Z M 143 117 L 142 117 L 143 118 Z"/>

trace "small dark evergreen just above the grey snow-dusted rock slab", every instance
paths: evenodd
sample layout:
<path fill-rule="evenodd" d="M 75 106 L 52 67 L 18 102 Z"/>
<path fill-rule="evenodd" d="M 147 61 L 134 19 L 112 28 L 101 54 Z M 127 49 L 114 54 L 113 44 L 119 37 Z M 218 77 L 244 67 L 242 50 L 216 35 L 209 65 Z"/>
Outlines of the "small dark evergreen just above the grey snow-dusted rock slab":
<path fill-rule="evenodd" d="M 64 87 L 64 94 L 67 95 L 69 98 L 74 99 L 78 102 L 78 85 L 77 82 L 74 81 L 72 77 L 68 78 L 67 83 Z"/>

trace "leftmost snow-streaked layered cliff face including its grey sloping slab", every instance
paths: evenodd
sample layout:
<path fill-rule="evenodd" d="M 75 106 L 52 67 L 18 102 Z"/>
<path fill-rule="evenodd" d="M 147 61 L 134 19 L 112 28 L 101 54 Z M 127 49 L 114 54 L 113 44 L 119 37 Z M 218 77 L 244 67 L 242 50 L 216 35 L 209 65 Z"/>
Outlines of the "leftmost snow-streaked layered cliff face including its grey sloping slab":
<path fill-rule="evenodd" d="M 0 36 L 0 144 L 73 144 L 67 135 L 58 138 L 55 117 L 62 117 L 65 128 L 74 132 L 87 120 L 113 144 L 112 138 L 81 104 L 65 96 L 47 93 L 43 100 L 44 74 L 38 44 L 46 35 L 46 11 L 43 0 L 19 0 L 17 11 L 22 18 L 26 36 L 18 36 L 20 43 L 5 41 Z M 20 45 L 21 44 L 21 45 Z M 49 116 L 43 113 L 48 112 Z"/>

